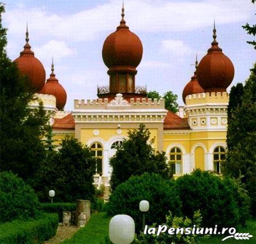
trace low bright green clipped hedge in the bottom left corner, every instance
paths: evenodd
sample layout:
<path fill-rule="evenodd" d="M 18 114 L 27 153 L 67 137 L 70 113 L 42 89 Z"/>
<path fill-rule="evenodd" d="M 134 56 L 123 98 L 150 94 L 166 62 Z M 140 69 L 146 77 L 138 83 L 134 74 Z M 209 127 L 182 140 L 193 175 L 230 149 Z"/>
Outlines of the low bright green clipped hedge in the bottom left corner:
<path fill-rule="evenodd" d="M 58 227 L 58 215 L 43 214 L 31 221 L 13 220 L 0 225 L 2 244 L 39 244 L 54 237 Z"/>

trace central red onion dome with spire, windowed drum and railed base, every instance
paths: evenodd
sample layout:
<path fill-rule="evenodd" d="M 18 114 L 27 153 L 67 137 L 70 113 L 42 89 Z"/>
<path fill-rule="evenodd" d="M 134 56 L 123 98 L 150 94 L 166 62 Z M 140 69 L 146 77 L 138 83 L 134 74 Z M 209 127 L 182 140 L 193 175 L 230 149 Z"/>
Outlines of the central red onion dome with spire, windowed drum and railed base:
<path fill-rule="evenodd" d="M 99 98 L 115 97 L 121 93 L 124 98 L 145 97 L 146 92 L 136 92 L 136 67 L 142 60 L 143 47 L 140 38 L 129 30 L 124 20 L 124 4 L 120 25 L 110 34 L 102 48 L 102 59 L 109 68 L 109 92 L 98 92 Z"/>

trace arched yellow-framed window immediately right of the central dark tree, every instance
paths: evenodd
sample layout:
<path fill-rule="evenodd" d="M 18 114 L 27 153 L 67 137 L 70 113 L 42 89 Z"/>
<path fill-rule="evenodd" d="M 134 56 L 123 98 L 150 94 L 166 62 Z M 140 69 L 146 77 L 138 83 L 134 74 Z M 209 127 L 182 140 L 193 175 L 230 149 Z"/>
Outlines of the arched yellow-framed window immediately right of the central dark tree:
<path fill-rule="evenodd" d="M 173 175 L 182 174 L 182 152 L 177 147 L 170 150 L 170 167 Z"/>

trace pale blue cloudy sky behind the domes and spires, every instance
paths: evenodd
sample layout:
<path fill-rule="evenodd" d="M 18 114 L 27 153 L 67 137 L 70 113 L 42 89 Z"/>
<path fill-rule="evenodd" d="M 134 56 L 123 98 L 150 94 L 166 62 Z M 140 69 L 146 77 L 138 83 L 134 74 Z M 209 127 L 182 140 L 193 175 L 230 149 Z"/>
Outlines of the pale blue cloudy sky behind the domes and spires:
<path fill-rule="evenodd" d="M 56 78 L 67 92 L 65 110 L 74 109 L 74 99 L 97 98 L 97 85 L 109 85 L 101 52 L 105 38 L 119 25 L 122 0 L 3 2 L 7 54 L 12 60 L 20 55 L 28 22 L 29 44 L 47 79 L 54 57 Z M 256 51 L 246 43 L 253 36 L 241 26 L 255 24 L 256 5 L 250 0 L 124 0 L 124 9 L 129 29 L 143 44 L 136 86 L 147 85 L 147 91 L 161 95 L 173 91 L 182 105 L 196 53 L 200 61 L 211 47 L 214 19 L 219 47 L 235 67 L 232 84 L 249 78 Z"/>

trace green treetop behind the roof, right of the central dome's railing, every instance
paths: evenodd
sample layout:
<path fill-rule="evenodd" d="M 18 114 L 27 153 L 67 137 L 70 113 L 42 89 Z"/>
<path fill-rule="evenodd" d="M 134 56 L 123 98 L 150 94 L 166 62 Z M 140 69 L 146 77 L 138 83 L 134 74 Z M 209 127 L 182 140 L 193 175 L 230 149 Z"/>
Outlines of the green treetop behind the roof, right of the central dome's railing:
<path fill-rule="evenodd" d="M 178 111 L 178 95 L 173 94 L 172 91 L 165 92 L 165 94 L 163 94 L 163 97 L 157 91 L 150 91 L 147 94 L 147 98 L 156 98 L 158 100 L 163 98 L 165 99 L 165 109 L 172 111 L 173 113 L 176 113 Z"/>

